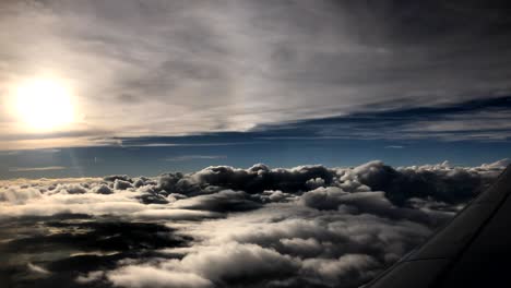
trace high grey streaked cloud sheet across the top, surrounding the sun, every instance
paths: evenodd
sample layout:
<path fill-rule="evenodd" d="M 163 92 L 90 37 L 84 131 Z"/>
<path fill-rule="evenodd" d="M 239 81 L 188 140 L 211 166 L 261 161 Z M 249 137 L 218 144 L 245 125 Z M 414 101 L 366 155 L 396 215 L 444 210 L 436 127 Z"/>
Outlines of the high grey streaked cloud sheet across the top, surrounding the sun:
<path fill-rule="evenodd" d="M 20 131 L 8 111 L 0 146 L 111 145 L 509 96 L 509 11 L 499 5 L 2 1 L 2 103 L 25 79 L 54 77 L 72 87 L 80 111 L 74 128 L 44 135 Z M 509 137 L 509 104 L 403 120 L 391 136 L 470 127 L 463 139 Z"/>

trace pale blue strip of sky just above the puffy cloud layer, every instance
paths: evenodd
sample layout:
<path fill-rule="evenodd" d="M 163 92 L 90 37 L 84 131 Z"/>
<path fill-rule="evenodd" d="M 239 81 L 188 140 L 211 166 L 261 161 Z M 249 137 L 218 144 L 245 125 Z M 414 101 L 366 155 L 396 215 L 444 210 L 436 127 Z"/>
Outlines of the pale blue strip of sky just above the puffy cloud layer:
<path fill-rule="evenodd" d="M 231 140 L 218 135 L 218 140 Z M 163 140 L 161 140 L 163 141 Z M 127 173 L 155 176 L 167 171 L 194 171 L 211 165 L 271 167 L 305 164 L 355 166 L 380 159 L 408 166 L 449 160 L 478 166 L 510 156 L 509 141 L 383 141 L 383 140 L 237 140 L 206 146 L 75 147 L 4 153 L 2 178 L 81 177 Z M 48 168 L 47 170 L 40 168 Z M 27 169 L 26 169 L 27 168 Z M 36 169 L 31 169 L 36 168 Z M 26 170 L 24 170 L 26 169 Z"/>

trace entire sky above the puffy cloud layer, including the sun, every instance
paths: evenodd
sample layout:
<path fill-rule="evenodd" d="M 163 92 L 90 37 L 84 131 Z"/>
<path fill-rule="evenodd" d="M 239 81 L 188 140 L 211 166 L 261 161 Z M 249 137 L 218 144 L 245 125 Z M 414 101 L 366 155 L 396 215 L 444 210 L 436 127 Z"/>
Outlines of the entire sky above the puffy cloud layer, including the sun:
<path fill-rule="evenodd" d="M 503 1 L 1 1 L 0 178 L 510 157 Z"/>

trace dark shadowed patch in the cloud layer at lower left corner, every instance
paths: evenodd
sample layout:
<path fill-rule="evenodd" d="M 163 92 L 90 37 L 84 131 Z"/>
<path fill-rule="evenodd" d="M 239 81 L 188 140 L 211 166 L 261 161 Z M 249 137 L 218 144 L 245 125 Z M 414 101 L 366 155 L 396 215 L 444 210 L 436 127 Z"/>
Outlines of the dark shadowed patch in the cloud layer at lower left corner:
<path fill-rule="evenodd" d="M 48 218 L 44 225 L 4 225 L 3 231 L 19 239 L 0 244 L 4 259 L 0 278 L 8 280 L 8 287 L 69 287 L 76 277 L 93 269 L 112 269 L 123 259 L 154 257 L 157 253 L 151 251 L 183 247 L 191 241 L 163 225 L 88 219 L 60 215 Z M 24 231 L 22 238 L 17 236 L 20 231 Z M 33 262 L 25 263 L 26 259 Z"/>

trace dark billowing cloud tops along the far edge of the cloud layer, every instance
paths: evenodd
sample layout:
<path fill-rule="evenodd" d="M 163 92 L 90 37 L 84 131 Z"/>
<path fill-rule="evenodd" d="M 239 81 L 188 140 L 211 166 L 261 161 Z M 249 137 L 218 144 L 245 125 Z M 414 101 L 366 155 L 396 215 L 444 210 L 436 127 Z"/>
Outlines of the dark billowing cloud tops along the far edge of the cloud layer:
<path fill-rule="evenodd" d="M 489 166 L 484 169 L 490 171 L 488 168 Z M 254 194 L 266 190 L 300 193 L 320 187 L 340 187 L 347 192 L 369 188 L 385 192 L 387 197 L 396 205 L 404 205 L 412 197 L 432 197 L 455 204 L 473 197 L 486 189 L 491 180 L 491 176 L 476 169 L 440 166 L 394 169 L 381 161 L 372 161 L 353 170 L 329 169 L 323 166 L 293 169 L 270 169 L 264 165 L 248 169 L 217 166 L 189 175 L 163 175 L 159 177 L 158 188 L 166 192 L 191 195 L 214 193 L 222 189 Z M 330 201 L 326 203 L 334 205 Z"/>

